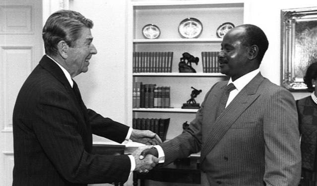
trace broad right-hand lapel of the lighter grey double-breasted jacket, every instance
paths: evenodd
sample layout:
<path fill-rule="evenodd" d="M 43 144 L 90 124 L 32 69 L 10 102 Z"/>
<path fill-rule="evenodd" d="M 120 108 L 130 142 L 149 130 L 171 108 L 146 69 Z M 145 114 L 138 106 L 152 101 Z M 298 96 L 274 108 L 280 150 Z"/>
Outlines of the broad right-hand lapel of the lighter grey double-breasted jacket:
<path fill-rule="evenodd" d="M 257 88 L 263 81 L 261 74 L 257 74 L 250 83 L 238 93 L 238 95 L 230 102 L 224 112 L 215 119 L 215 112 L 213 112 L 212 120 L 213 124 L 210 125 L 210 132 L 208 137 L 203 143 L 201 149 L 201 160 L 213 149 L 213 147 L 222 139 L 226 132 L 230 129 L 232 124 L 237 120 L 238 117 L 254 102 L 254 100 L 260 95 L 257 93 Z M 221 88 L 223 89 L 223 88 Z M 222 91 L 223 92 L 223 91 Z M 220 96 L 218 96 L 220 97 Z M 219 98 L 220 99 L 220 98 Z M 219 102 L 219 100 L 218 100 Z M 212 118 L 211 118 L 212 119 Z M 201 161 L 201 162 L 202 162 Z"/>

